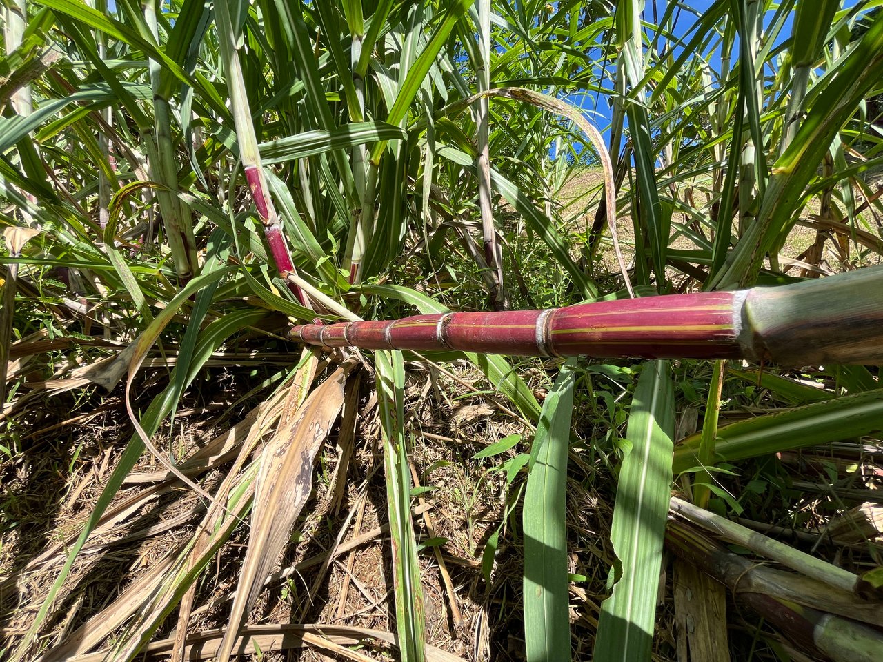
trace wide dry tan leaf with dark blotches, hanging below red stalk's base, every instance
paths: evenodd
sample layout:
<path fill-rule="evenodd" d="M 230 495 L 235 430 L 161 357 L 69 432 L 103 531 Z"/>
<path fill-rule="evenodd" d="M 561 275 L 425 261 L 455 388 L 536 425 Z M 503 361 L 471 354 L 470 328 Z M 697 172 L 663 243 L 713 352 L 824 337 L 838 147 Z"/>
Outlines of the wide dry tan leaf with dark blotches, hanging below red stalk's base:
<path fill-rule="evenodd" d="M 226 660 L 245 616 L 289 539 L 313 488 L 313 461 L 343 407 L 346 370 L 339 368 L 306 399 L 290 425 L 280 425 L 260 459 L 252 530 L 239 575 L 230 625 L 217 658 Z"/>

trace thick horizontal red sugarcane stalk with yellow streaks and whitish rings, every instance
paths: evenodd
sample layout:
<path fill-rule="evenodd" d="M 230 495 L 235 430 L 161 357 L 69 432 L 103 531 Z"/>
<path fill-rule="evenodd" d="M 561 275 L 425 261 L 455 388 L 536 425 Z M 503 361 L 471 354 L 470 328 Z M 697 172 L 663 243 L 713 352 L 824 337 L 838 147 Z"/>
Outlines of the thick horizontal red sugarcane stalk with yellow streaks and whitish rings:
<path fill-rule="evenodd" d="M 883 267 L 776 288 L 293 327 L 300 342 L 513 356 L 883 365 Z"/>

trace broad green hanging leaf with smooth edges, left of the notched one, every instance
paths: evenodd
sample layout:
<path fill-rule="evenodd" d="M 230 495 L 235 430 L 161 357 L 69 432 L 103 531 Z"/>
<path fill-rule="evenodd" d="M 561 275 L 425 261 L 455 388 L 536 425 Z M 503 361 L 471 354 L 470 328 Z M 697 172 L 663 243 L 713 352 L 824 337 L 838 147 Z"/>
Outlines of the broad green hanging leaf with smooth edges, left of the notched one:
<path fill-rule="evenodd" d="M 570 659 L 567 452 L 577 359 L 543 402 L 525 490 L 525 647 L 528 662 Z"/>

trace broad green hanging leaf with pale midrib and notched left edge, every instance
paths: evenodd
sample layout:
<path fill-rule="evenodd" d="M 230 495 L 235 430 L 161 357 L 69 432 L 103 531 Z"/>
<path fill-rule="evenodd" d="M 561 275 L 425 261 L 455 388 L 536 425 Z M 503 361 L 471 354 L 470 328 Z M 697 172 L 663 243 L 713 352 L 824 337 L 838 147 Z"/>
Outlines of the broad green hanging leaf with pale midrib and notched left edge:
<path fill-rule="evenodd" d="M 618 581 L 601 605 L 595 662 L 650 659 L 671 494 L 675 391 L 668 361 L 650 361 L 638 378 L 626 436 L 631 444 L 616 487 L 610 539 Z"/>

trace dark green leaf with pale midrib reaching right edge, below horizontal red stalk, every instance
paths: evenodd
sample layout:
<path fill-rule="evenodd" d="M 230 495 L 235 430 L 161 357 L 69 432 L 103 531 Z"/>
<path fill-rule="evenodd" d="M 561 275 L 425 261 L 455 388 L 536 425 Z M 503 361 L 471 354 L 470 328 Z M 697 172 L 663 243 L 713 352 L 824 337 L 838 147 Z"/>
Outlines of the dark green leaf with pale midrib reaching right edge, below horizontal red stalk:
<path fill-rule="evenodd" d="M 731 463 L 879 430 L 883 430 L 883 389 L 878 388 L 721 427 L 715 441 L 715 459 Z M 675 450 L 675 473 L 699 466 L 700 436 L 692 434 Z"/>

